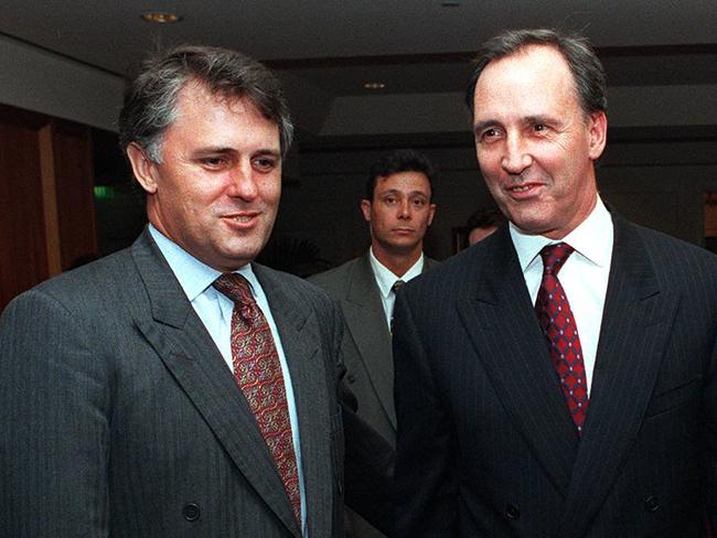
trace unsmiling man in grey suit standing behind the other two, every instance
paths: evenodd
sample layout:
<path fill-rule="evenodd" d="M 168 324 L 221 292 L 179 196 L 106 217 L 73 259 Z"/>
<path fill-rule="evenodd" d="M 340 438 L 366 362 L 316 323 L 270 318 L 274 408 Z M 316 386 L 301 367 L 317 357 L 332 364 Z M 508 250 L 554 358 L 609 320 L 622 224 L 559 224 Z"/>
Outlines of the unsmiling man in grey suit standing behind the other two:
<path fill-rule="evenodd" d="M 438 265 L 424 256 L 424 236 L 436 214 L 434 176 L 428 158 L 414 150 L 397 150 L 376 161 L 361 201 L 371 247 L 362 257 L 310 279 L 343 312 L 346 378 L 358 401 L 358 416 L 392 445 L 396 442 L 390 351 L 394 286 Z M 351 537 L 383 536 L 355 514 L 350 513 L 347 520 Z"/>

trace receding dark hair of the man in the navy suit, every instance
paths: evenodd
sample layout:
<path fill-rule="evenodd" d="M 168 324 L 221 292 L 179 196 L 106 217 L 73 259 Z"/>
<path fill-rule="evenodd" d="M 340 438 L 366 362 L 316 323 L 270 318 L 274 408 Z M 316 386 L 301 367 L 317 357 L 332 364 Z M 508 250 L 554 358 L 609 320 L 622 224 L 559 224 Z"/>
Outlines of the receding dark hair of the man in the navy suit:
<path fill-rule="evenodd" d="M 575 89 L 586 116 L 607 111 L 608 83 L 604 69 L 587 37 L 549 29 L 509 30 L 486 41 L 474 61 L 475 69 L 465 90 L 465 104 L 471 117 L 474 115 L 475 85 L 485 66 L 493 60 L 511 56 L 531 45 L 552 46 L 563 55 L 572 73 Z"/>

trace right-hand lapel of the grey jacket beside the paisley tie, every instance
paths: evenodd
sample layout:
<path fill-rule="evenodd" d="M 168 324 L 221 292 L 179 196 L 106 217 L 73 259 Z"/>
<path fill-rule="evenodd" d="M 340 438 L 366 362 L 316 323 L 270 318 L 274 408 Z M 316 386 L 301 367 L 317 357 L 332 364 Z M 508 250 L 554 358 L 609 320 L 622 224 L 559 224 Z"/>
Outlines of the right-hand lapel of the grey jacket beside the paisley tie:
<path fill-rule="evenodd" d="M 308 323 L 312 311 L 301 297 L 292 294 L 295 292 L 287 282 L 256 263 L 254 272 L 271 306 L 291 374 L 299 418 L 309 536 L 329 536 L 333 497 L 331 470 L 327 469 L 327 462 L 332 461 L 331 438 L 327 430 L 331 418 L 325 392 L 327 365 L 319 351 L 322 338 L 315 332 L 315 324 Z"/>

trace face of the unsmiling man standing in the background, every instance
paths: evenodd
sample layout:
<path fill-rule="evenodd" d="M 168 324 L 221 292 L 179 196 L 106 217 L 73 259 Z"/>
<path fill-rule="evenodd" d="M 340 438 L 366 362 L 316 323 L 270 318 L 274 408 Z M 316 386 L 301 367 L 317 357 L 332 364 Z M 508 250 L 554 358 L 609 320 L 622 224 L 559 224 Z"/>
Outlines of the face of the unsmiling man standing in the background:
<path fill-rule="evenodd" d="M 379 176 L 373 201 L 361 201 L 361 211 L 371 226 L 374 249 L 400 255 L 421 248 L 426 229 L 436 213 L 430 196 L 428 177 L 421 172 Z"/>

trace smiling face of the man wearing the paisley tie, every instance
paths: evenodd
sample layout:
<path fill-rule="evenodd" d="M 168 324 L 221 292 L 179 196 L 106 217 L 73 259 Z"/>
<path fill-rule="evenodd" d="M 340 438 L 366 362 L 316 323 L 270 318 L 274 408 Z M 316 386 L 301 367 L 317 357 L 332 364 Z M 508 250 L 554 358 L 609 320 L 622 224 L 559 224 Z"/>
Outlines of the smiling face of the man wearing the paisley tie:
<path fill-rule="evenodd" d="M 128 148 L 149 219 L 199 260 L 232 271 L 256 258 L 271 233 L 281 194 L 279 129 L 248 99 L 192 82 L 176 110 L 161 164 Z"/>

